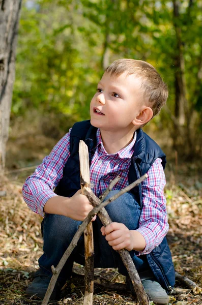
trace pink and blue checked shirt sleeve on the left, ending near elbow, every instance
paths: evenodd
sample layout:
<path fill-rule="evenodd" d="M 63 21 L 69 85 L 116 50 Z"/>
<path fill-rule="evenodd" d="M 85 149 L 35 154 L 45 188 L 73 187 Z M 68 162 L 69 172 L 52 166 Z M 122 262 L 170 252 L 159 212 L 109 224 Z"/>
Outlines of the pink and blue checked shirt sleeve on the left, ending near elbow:
<path fill-rule="evenodd" d="M 35 172 L 29 176 L 22 187 L 24 201 L 31 210 L 44 217 L 44 205 L 53 196 L 53 189 L 63 177 L 63 168 L 70 156 L 70 132 L 43 159 Z"/>

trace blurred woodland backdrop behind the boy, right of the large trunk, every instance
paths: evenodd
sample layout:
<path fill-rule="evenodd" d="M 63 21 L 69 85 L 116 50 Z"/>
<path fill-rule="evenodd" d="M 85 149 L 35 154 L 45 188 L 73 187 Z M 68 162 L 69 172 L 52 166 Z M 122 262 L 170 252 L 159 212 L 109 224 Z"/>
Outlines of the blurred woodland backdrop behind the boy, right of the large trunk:
<path fill-rule="evenodd" d="M 201 37 L 200 0 L 23 1 L 7 168 L 39 164 L 75 121 L 88 119 L 104 70 L 125 57 L 147 60 L 169 87 L 167 106 L 145 131 L 170 166 L 191 162 L 196 171 L 197 162 L 198 170 Z"/>

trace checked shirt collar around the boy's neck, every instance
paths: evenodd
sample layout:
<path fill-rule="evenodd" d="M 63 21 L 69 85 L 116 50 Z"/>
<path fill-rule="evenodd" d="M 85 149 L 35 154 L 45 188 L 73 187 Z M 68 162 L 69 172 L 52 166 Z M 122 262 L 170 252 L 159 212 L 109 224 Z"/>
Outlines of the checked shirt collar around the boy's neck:
<path fill-rule="evenodd" d="M 98 128 L 97 130 L 97 146 L 100 146 L 101 147 L 101 150 L 102 150 L 102 153 L 105 154 L 105 155 L 118 155 L 121 159 L 124 159 L 124 158 L 131 158 L 132 155 L 133 155 L 133 146 L 135 144 L 135 141 L 136 141 L 136 132 L 134 133 L 134 137 L 133 137 L 133 140 L 132 142 L 130 142 L 130 144 L 128 144 L 126 147 L 124 147 L 123 149 L 119 150 L 116 154 L 107 154 L 105 148 L 104 148 L 104 145 L 103 145 L 103 142 L 102 142 L 102 138 L 101 138 L 101 134 L 100 134 L 100 129 Z"/>

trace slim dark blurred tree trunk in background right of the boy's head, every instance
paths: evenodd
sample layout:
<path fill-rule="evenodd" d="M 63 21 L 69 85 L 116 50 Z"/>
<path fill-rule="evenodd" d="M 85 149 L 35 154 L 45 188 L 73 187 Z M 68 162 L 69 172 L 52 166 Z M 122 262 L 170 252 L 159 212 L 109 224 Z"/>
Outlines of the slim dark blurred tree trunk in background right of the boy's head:
<path fill-rule="evenodd" d="M 184 43 L 182 41 L 182 22 L 180 20 L 180 1 L 172 0 L 174 7 L 174 27 L 176 31 L 176 52 L 175 52 L 175 116 L 179 121 L 179 128 L 172 134 L 174 148 L 178 150 L 187 149 L 187 155 L 192 157 L 195 154 L 195 138 L 191 130 L 191 121 L 193 120 L 194 104 L 189 107 L 186 98 L 186 82 L 185 82 L 185 60 L 184 60 Z M 191 25 L 191 8 L 192 1 L 189 2 L 187 9 L 187 18 L 184 20 L 187 27 Z M 185 142 L 186 139 L 186 142 Z M 188 144 L 188 145 L 187 145 Z"/>

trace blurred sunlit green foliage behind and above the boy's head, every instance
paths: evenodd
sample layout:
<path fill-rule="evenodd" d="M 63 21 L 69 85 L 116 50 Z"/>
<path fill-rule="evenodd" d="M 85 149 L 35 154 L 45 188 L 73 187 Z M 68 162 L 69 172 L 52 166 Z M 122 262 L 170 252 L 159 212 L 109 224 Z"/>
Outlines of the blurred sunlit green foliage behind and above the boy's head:
<path fill-rule="evenodd" d="M 201 121 L 202 1 L 179 2 L 186 98 Z M 29 4 L 29 5 L 28 5 Z M 31 8 L 30 4 L 33 5 Z M 169 86 L 168 108 L 175 110 L 175 56 L 179 52 L 171 1 L 24 1 L 19 26 L 13 115 L 27 110 L 89 117 L 89 103 L 108 63 L 121 57 L 147 60 Z M 202 68 L 201 68 L 202 70 Z M 162 127 L 174 126 L 162 111 Z M 159 119 L 155 119 L 159 124 Z"/>

